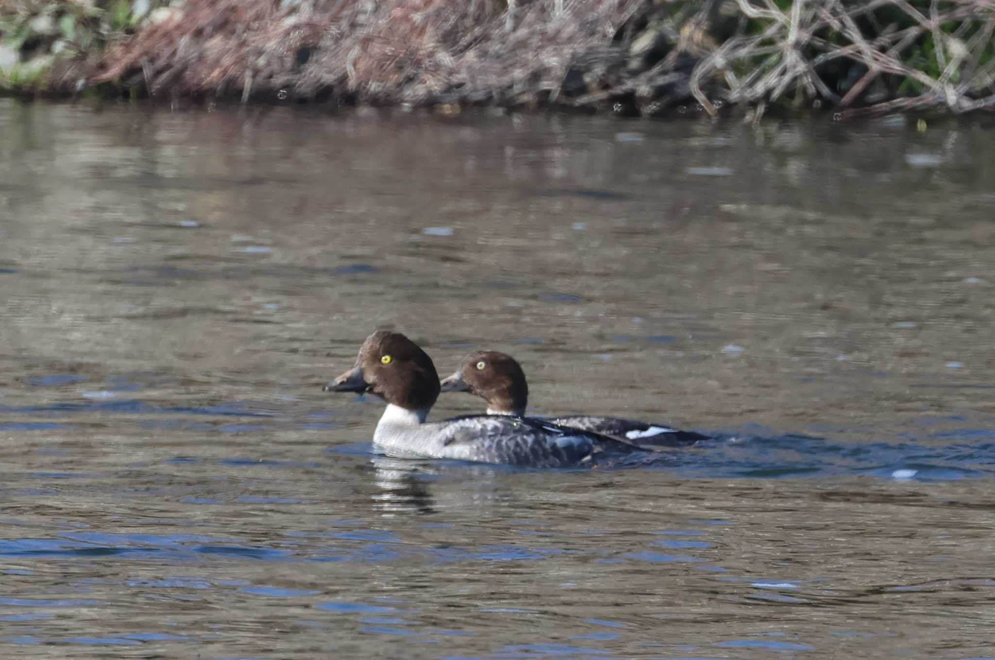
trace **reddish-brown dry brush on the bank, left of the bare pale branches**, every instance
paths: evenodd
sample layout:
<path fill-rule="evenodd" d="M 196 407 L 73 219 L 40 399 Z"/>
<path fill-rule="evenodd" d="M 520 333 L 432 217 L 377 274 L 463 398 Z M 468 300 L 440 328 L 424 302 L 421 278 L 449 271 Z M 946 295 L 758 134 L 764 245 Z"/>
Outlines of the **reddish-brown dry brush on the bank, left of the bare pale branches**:
<path fill-rule="evenodd" d="M 509 105 L 555 100 L 566 83 L 566 95 L 593 93 L 586 102 L 595 102 L 646 78 L 625 71 L 628 43 L 613 39 L 656 4 L 575 0 L 556 14 L 550 0 L 518 0 L 511 12 L 495 0 L 314 0 L 284 9 L 274 0 L 190 0 L 110 49 L 89 80 L 153 94 Z"/>

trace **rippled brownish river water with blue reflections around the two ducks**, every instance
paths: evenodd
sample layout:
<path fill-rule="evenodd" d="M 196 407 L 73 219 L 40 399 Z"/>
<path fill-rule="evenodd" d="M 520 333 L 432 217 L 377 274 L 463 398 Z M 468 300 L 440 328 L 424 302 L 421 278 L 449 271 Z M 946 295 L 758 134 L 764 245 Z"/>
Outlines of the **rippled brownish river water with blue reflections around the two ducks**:
<path fill-rule="evenodd" d="M 2 657 L 995 657 L 995 130 L 913 124 L 0 100 Z M 378 327 L 718 439 L 374 456 Z"/>

